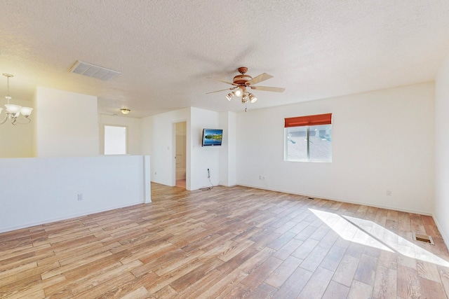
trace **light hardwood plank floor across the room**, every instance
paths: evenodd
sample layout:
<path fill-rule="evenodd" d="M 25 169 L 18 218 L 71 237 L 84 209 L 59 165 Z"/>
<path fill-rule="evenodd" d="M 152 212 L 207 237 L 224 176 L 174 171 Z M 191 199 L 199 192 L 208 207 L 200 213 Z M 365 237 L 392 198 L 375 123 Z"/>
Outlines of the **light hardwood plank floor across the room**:
<path fill-rule="evenodd" d="M 153 183 L 152 200 L 0 234 L 0 298 L 449 293 L 448 250 L 429 216 L 239 186 Z"/>

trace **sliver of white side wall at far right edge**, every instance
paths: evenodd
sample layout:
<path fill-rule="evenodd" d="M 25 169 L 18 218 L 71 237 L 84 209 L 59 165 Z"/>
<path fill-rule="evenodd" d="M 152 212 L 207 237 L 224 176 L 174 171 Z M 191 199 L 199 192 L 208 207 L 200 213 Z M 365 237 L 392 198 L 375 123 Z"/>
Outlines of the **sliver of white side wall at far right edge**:
<path fill-rule="evenodd" d="M 449 55 L 435 81 L 435 207 L 434 220 L 449 246 Z"/>

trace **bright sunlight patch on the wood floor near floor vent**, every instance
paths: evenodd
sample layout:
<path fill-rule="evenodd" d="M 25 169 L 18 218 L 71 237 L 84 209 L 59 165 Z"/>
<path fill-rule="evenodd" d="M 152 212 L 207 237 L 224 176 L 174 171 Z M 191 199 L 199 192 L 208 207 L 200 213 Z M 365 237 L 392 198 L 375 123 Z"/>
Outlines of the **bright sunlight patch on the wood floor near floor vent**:
<path fill-rule="evenodd" d="M 403 256 L 449 267 L 448 261 L 439 258 L 426 249 L 422 249 L 420 246 L 413 244 L 373 221 L 351 216 L 340 216 L 317 209 L 309 209 L 309 211 L 314 213 L 323 223 L 326 223 L 329 228 L 347 241 L 375 247 L 384 251 L 397 252 Z"/>

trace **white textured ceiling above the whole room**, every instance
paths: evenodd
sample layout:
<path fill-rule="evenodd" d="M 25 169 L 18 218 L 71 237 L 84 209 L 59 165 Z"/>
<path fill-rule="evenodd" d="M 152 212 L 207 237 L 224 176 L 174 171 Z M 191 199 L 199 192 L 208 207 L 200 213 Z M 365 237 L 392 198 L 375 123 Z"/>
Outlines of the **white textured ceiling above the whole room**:
<path fill-rule="evenodd" d="M 11 95 L 36 86 L 98 96 L 100 113 L 149 116 L 194 106 L 243 111 L 212 81 L 238 67 L 274 78 L 260 109 L 434 80 L 449 53 L 447 0 L 1 0 L 0 73 Z M 121 71 L 101 81 L 82 60 Z M 0 95 L 6 80 L 0 78 Z"/>

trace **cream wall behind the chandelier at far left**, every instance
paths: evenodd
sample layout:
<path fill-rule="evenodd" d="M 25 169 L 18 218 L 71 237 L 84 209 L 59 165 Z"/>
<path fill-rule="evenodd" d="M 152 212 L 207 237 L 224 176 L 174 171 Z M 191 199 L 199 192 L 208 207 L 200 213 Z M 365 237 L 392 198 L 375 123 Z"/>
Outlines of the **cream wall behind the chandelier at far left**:
<path fill-rule="evenodd" d="M 0 107 L 3 111 L 0 113 L 0 120 L 3 120 L 5 116 L 5 106 L 7 104 L 6 99 L 1 97 Z M 11 104 L 16 104 L 25 107 L 32 107 L 34 105 L 31 101 L 23 101 L 20 99 L 12 99 Z M 6 123 L 0 125 L 0 140 L 2 146 L 0 146 L 0 158 L 29 158 L 33 156 L 32 142 L 34 132 L 34 116 L 36 110 L 33 111 L 29 118 L 31 123 L 25 125 L 13 125 L 11 121 L 6 120 Z M 23 116 L 20 116 L 22 118 Z"/>

